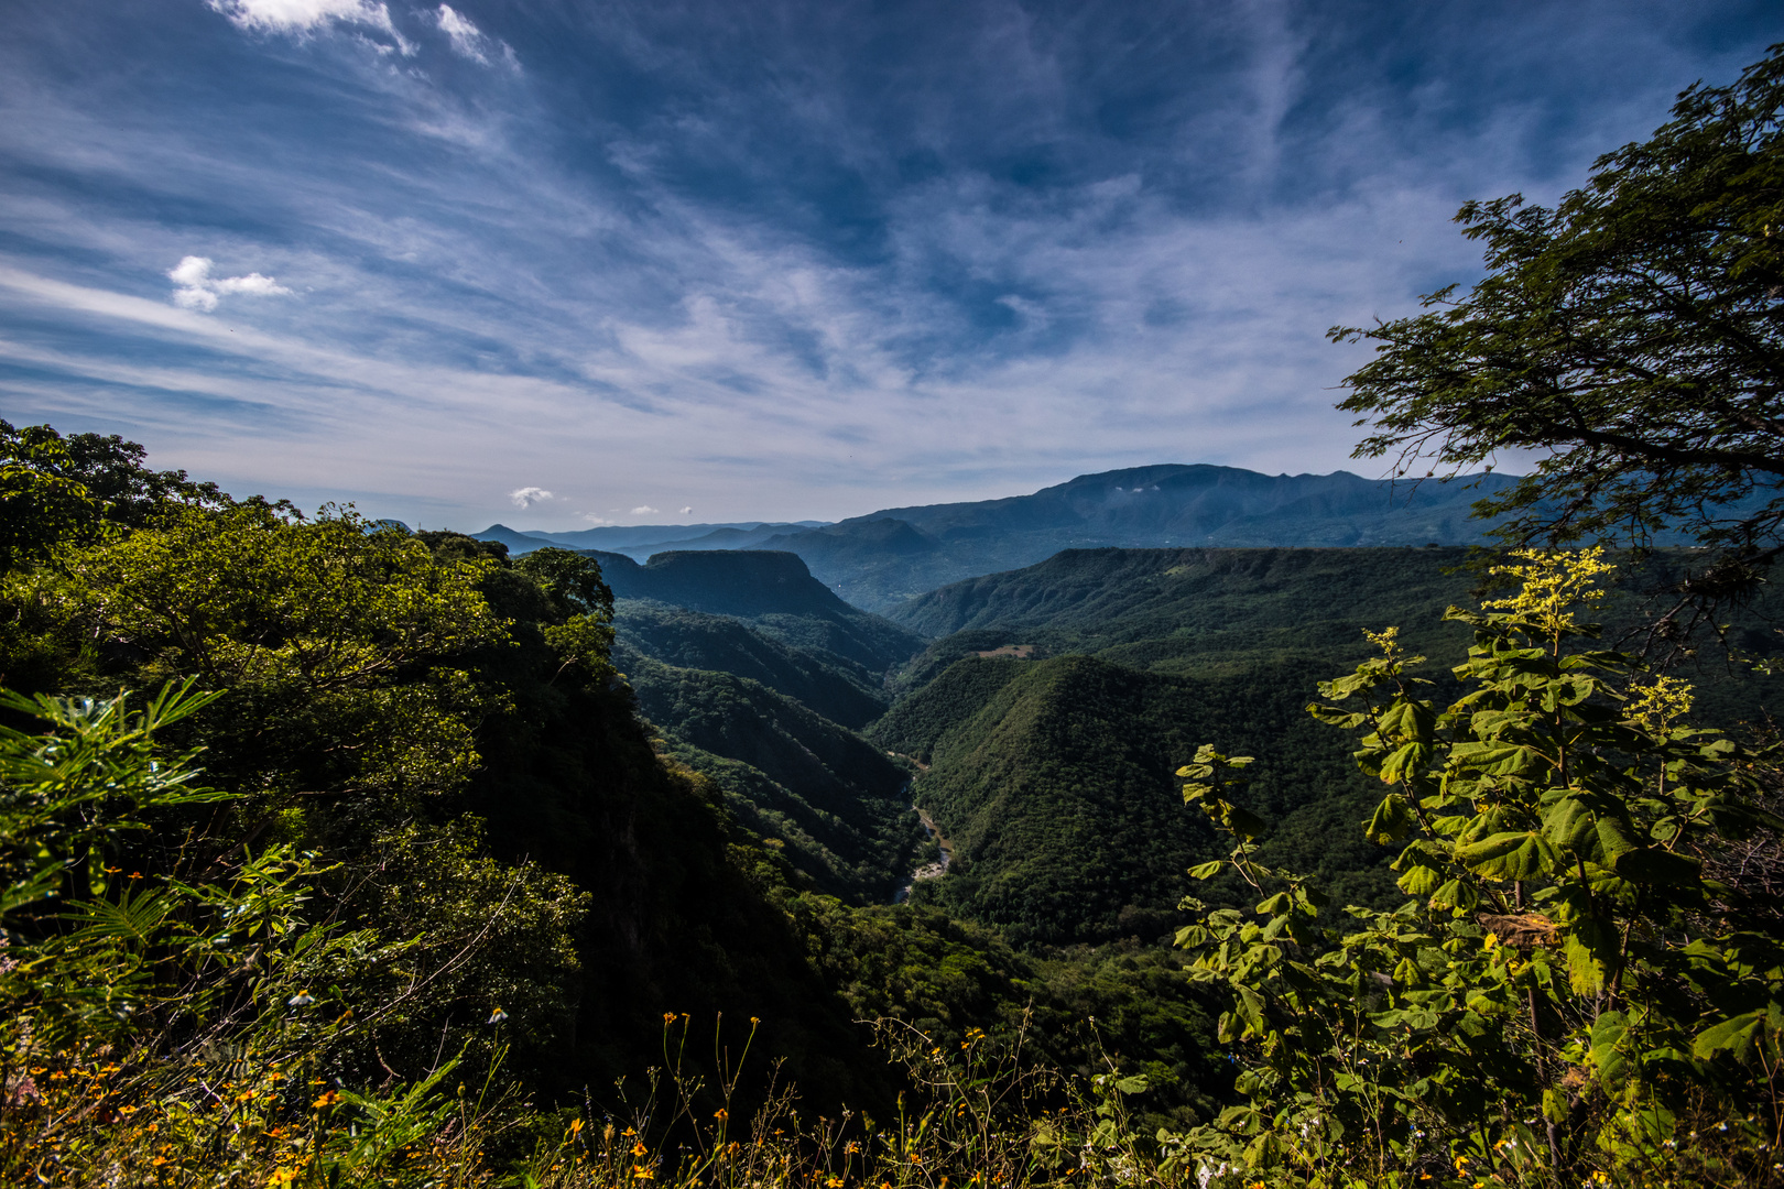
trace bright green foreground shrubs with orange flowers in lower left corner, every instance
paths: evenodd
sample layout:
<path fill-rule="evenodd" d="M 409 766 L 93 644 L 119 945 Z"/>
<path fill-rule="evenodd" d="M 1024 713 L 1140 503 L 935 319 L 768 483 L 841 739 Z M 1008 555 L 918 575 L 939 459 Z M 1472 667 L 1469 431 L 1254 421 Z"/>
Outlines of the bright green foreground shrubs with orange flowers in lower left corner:
<path fill-rule="evenodd" d="M 339 984 L 414 941 L 318 920 L 326 868 L 285 845 L 187 845 L 169 870 L 128 870 L 148 820 L 225 799 L 191 756 L 157 756 L 157 734 L 211 701 L 191 683 L 136 713 L 7 695 L 54 733 L 0 731 L 0 1177 L 480 1182 L 467 1141 L 489 1118 L 441 1093 L 455 1061 L 382 1093 L 330 1077 L 378 1014 Z"/>

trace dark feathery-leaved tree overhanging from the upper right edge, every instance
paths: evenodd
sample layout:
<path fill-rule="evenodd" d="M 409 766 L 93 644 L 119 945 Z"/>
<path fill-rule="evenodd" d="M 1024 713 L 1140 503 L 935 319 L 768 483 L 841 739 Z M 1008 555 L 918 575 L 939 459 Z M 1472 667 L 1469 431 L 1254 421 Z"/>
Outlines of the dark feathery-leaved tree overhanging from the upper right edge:
<path fill-rule="evenodd" d="M 1780 121 L 1784 45 L 1734 86 L 1684 91 L 1554 209 L 1465 205 L 1488 266 L 1466 298 L 1329 332 L 1377 344 L 1338 405 L 1372 426 L 1356 456 L 1429 478 L 1540 451 L 1475 504 L 1509 544 L 1684 529 L 1718 551 L 1686 594 L 1750 581 L 1784 551 Z"/>

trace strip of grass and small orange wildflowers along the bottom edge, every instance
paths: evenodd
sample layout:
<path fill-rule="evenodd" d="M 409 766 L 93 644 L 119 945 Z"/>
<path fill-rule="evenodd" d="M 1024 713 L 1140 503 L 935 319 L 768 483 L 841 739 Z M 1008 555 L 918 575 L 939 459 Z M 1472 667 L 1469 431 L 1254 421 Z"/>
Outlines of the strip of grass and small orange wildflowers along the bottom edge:
<path fill-rule="evenodd" d="M 1140 1082 L 1113 1066 L 1085 1082 L 1037 1064 L 1028 1027 L 1006 1041 L 974 1029 L 953 1052 L 904 1021 L 872 1029 L 908 1082 L 887 1119 L 810 1118 L 778 1066 L 749 1118 L 733 1118 L 749 1046 L 733 1057 L 715 1027 L 710 1064 L 690 1061 L 685 1014 L 664 1016 L 664 1066 L 637 1087 L 560 1111 L 530 1111 L 498 1075 L 457 1084 L 451 1061 L 414 1086 L 355 1093 L 298 1066 L 66 1054 L 7 1077 L 0 1168 L 11 1184 L 78 1189 L 1161 1184 L 1124 1127 L 1124 1087 Z"/>

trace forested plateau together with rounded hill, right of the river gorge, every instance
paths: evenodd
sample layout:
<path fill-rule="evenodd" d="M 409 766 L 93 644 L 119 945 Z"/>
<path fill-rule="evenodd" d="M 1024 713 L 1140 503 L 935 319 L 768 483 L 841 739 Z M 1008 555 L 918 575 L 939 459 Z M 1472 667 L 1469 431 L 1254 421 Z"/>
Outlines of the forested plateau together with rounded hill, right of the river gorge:
<path fill-rule="evenodd" d="M 1413 652 L 1461 656 L 1472 629 L 1443 611 L 1477 606 L 1470 585 L 1484 576 L 1445 570 L 1466 560 L 1465 549 L 1067 551 L 899 608 L 940 638 L 894 674 L 899 697 L 869 738 L 931 765 L 913 793 L 956 856 L 919 898 L 1026 939 L 1156 936 L 1185 868 L 1211 857 L 1172 772 L 1213 743 L 1258 758 L 1247 806 L 1272 822 L 1270 861 L 1318 872 L 1350 902 L 1392 900 L 1388 852 L 1354 829 L 1379 793 L 1356 772 L 1352 738 L 1306 706 L 1320 681 L 1375 651 L 1365 629 L 1400 627 Z M 1650 556 L 1620 574 L 1600 606 L 1607 631 L 1645 622 L 1645 592 L 1673 579 L 1672 563 Z M 1730 636 L 1772 649 L 1773 619 L 1763 592 Z M 1707 720 L 1730 726 L 1759 722 L 1780 692 L 1720 652 L 1675 672 Z M 1420 676 L 1438 697 L 1456 688 L 1447 665 Z"/>

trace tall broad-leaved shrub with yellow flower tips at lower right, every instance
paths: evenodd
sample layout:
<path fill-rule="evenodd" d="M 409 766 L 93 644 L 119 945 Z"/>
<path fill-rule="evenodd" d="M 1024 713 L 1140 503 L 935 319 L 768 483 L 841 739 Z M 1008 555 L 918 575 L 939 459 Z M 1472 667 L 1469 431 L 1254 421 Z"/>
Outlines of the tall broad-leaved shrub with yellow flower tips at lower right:
<path fill-rule="evenodd" d="M 1458 701 L 1390 629 L 1309 708 L 1365 733 L 1358 765 L 1390 790 L 1365 832 L 1402 845 L 1402 907 L 1324 936 L 1317 890 L 1260 863 L 1233 800 L 1251 759 L 1202 747 L 1179 770 L 1236 838 L 1192 875 L 1238 872 L 1261 900 L 1179 932 L 1226 995 L 1247 1102 L 1176 1159 L 1308 1185 L 1773 1178 L 1784 947 L 1738 873 L 1704 873 L 1780 825 L 1764 758 L 1688 726 L 1677 679 L 1591 647 L 1598 551 L 1516 556 L 1518 594 L 1450 610 L 1475 631 Z"/>

